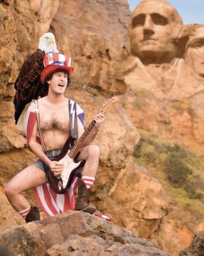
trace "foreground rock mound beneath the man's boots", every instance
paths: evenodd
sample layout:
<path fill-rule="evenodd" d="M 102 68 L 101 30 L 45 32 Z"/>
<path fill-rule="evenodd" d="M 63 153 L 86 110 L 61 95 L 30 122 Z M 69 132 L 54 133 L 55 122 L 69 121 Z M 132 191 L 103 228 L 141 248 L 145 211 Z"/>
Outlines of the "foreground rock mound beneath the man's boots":
<path fill-rule="evenodd" d="M 169 255 L 131 231 L 74 211 L 14 227 L 1 234 L 0 243 L 18 256 Z"/>

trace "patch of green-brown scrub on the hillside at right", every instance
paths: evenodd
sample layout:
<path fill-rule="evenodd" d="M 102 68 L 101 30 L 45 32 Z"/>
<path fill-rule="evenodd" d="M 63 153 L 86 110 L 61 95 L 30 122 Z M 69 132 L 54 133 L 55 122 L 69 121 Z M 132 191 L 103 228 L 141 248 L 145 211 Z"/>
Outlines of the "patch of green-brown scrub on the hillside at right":
<path fill-rule="evenodd" d="M 140 131 L 133 156 L 147 167 L 180 208 L 204 214 L 204 156 L 182 145 Z"/>

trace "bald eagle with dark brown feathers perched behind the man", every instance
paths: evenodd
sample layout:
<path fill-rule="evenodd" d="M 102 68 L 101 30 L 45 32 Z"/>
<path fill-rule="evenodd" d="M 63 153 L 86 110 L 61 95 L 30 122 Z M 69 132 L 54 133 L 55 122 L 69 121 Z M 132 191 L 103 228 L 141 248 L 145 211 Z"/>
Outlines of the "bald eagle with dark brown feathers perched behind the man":
<path fill-rule="evenodd" d="M 20 68 L 14 84 L 16 89 L 14 96 L 16 124 L 28 103 L 39 96 L 44 97 L 48 94 L 48 88 L 45 88 L 40 81 L 40 74 L 44 69 L 44 55 L 48 53 L 58 53 L 53 33 L 45 33 L 39 38 L 37 51 L 27 57 Z"/>

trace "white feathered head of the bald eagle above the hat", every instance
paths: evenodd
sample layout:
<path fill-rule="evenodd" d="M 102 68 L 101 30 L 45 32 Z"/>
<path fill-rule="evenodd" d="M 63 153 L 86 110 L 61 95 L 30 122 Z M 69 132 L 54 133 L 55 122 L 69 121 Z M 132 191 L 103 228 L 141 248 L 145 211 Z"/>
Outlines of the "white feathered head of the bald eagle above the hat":
<path fill-rule="evenodd" d="M 58 50 L 56 48 L 54 34 L 53 33 L 44 33 L 44 35 L 42 35 L 39 38 L 38 48 L 41 51 L 44 51 L 44 53 L 46 53 L 46 54 L 58 53 Z"/>

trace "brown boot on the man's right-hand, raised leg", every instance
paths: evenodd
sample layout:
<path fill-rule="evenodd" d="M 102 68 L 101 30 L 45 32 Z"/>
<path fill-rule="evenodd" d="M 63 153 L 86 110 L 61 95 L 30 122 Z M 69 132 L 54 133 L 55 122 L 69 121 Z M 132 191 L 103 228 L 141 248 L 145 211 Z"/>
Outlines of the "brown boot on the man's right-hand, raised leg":
<path fill-rule="evenodd" d="M 80 180 L 78 184 L 78 197 L 75 201 L 74 210 L 88 212 L 90 214 L 94 214 L 97 210 L 95 205 L 88 205 L 88 188 L 86 188 L 86 184 L 83 180 Z"/>

